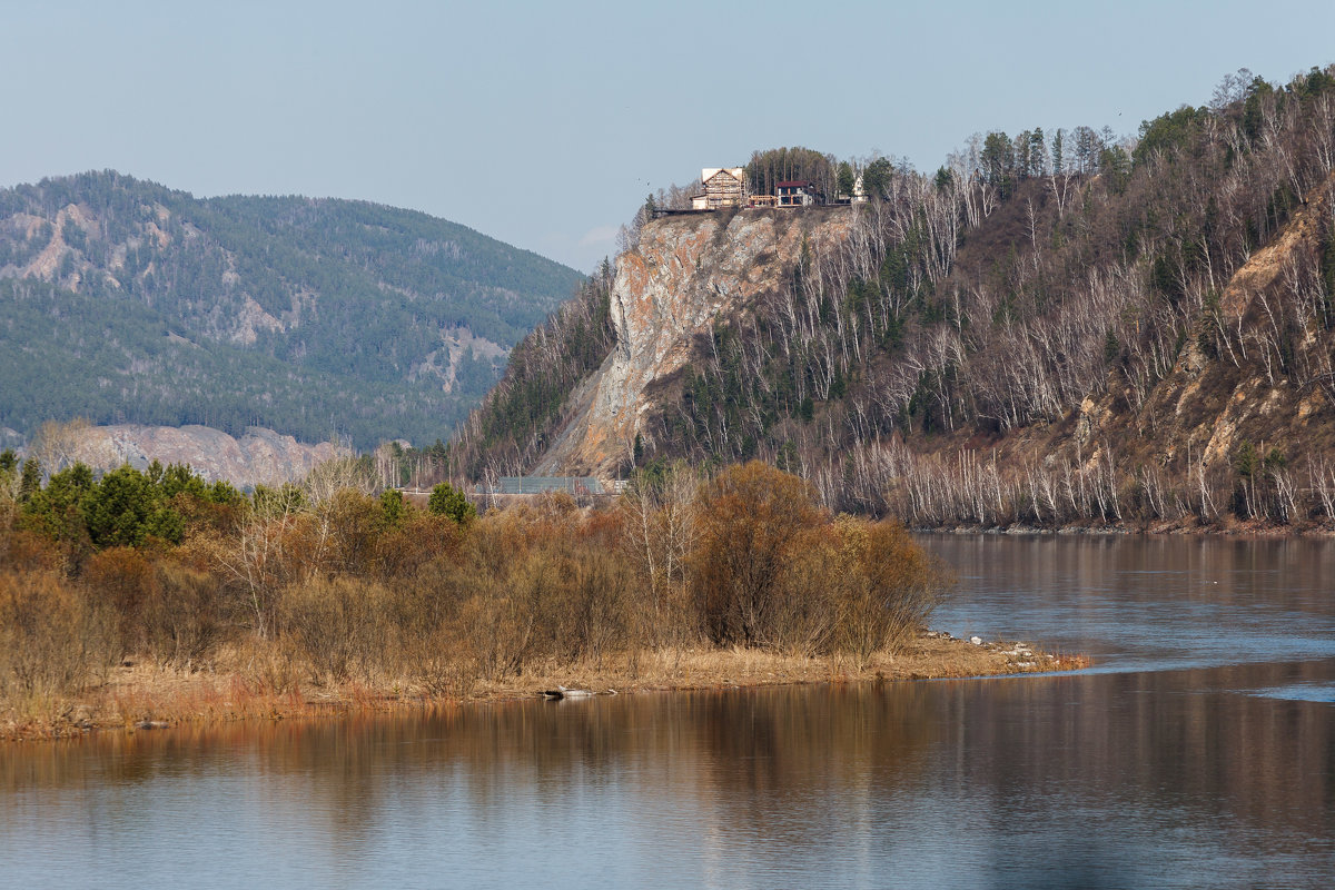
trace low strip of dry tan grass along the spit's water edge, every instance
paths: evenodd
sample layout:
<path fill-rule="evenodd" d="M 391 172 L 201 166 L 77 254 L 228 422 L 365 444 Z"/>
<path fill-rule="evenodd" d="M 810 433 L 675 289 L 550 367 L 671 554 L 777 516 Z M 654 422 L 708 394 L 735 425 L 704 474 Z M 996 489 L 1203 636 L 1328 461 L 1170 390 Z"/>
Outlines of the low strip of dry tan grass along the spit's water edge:
<path fill-rule="evenodd" d="M 997 677 L 1088 667 L 1080 655 L 1020 642 L 979 642 L 928 631 L 858 669 L 849 658 L 812 658 L 754 648 L 669 647 L 623 654 L 602 666 L 534 666 L 519 677 L 473 681 L 462 674 L 315 683 L 292 677 L 279 652 L 234 650 L 210 670 L 146 662 L 112 669 L 99 686 L 61 699 L 0 703 L 0 739 L 72 738 L 93 731 L 142 733 L 232 721 L 383 713 L 533 698 L 567 686 L 637 694 L 808 683 L 897 682 Z M 454 689 L 450 689 L 450 686 Z M 431 689 L 434 687 L 434 689 Z"/>

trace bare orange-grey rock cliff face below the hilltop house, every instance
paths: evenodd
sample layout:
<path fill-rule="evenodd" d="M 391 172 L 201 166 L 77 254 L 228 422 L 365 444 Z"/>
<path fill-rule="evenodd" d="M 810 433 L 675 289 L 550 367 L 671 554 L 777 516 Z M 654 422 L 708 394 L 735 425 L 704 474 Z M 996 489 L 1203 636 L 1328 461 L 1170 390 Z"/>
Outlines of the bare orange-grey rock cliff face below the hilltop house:
<path fill-rule="evenodd" d="M 792 278 L 804 246 L 821 254 L 848 238 L 849 207 L 669 216 L 617 258 L 615 347 L 571 396 L 538 474 L 613 475 L 658 407 L 655 384 L 690 360 L 698 335 L 745 312 Z"/>

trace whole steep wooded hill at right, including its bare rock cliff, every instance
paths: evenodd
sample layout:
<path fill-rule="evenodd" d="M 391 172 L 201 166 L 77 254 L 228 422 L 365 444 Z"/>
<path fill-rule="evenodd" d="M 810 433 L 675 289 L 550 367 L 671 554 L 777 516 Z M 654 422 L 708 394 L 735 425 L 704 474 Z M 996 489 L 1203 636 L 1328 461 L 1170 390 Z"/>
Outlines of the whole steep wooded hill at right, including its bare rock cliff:
<path fill-rule="evenodd" d="M 598 371 L 513 367 L 458 470 L 761 456 L 929 523 L 1335 518 L 1335 68 L 1240 72 L 1137 137 L 850 165 L 870 200 L 801 234 L 646 223 L 606 299 L 541 335 L 605 331 Z"/>

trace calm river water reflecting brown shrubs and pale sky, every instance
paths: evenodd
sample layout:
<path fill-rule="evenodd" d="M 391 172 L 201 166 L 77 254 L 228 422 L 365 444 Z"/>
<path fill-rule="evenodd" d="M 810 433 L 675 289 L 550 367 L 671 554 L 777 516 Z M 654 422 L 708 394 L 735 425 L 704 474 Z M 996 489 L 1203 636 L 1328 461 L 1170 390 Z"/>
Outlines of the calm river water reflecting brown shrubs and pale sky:
<path fill-rule="evenodd" d="M 1096 666 L 0 747 L 0 886 L 1335 885 L 1335 546 L 924 540 Z"/>

